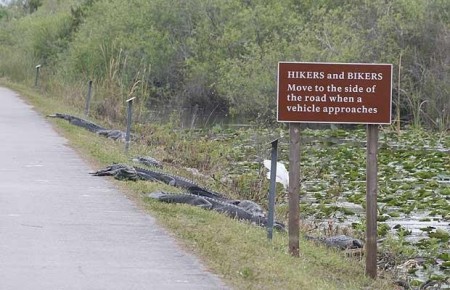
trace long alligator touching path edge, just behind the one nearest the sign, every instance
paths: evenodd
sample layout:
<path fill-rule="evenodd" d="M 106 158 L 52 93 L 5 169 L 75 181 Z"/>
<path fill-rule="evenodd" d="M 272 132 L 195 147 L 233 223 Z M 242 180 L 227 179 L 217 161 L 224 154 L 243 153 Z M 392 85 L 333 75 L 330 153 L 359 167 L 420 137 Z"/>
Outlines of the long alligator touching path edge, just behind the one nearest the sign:
<path fill-rule="evenodd" d="M 172 175 L 160 170 L 144 169 L 141 167 L 128 166 L 124 164 L 113 164 L 106 167 L 105 169 L 93 172 L 91 174 L 96 176 L 109 175 L 114 176 L 117 179 L 127 179 L 126 177 L 129 174 L 130 167 L 132 167 L 136 171 L 138 179 L 149 181 L 161 181 L 171 186 L 187 189 L 190 193 L 195 195 L 223 198 L 223 196 L 220 193 L 201 187 L 192 180 L 189 180 L 181 176 Z M 120 173 L 121 170 L 124 170 L 125 172 L 122 174 Z M 132 178 L 130 178 L 130 180 L 136 180 L 133 175 L 131 176 Z"/>

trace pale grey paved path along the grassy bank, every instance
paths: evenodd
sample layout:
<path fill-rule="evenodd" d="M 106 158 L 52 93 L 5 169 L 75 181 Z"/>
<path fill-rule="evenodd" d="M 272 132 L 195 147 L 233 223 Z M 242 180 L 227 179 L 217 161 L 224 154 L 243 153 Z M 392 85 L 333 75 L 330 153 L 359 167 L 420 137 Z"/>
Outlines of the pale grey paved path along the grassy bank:
<path fill-rule="evenodd" d="M 1 87 L 0 134 L 1 290 L 225 289 Z"/>

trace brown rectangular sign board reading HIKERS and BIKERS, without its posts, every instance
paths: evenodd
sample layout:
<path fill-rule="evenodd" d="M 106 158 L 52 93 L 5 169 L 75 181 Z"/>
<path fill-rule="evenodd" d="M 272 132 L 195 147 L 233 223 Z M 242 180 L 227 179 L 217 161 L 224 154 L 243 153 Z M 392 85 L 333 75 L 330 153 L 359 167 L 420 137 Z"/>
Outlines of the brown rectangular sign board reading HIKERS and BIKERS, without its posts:
<path fill-rule="evenodd" d="M 279 122 L 390 124 L 391 99 L 391 64 L 278 64 Z"/>

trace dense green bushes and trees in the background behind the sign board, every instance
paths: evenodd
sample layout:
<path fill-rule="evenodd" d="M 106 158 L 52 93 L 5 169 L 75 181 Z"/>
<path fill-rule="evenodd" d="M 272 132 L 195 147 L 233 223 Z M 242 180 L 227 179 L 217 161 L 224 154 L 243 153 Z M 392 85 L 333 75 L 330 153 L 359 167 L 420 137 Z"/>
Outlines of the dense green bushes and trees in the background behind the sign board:
<path fill-rule="evenodd" d="M 450 128 L 447 0 L 16 0 L 0 6 L 0 77 L 118 120 L 163 105 L 275 120 L 277 62 L 394 64 L 394 116 Z M 160 110 L 161 111 L 161 110 Z"/>

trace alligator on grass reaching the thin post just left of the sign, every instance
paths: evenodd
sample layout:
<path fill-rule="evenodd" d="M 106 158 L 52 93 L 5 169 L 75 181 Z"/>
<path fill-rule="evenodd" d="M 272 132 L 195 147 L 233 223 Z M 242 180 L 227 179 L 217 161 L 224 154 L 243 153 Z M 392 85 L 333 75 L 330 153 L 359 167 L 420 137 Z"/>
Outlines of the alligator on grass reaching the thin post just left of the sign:
<path fill-rule="evenodd" d="M 234 201 L 226 200 L 221 198 L 211 198 L 207 196 L 199 196 L 192 193 L 168 193 L 163 191 L 151 192 L 147 194 L 149 198 L 153 198 L 162 202 L 167 203 L 182 203 L 189 204 L 193 206 L 198 206 L 203 209 L 214 210 L 219 213 L 223 213 L 231 218 L 238 220 L 249 221 L 258 226 L 267 226 L 268 219 L 264 215 L 262 209 L 259 205 L 256 205 L 252 201 Z M 237 202 L 237 203 L 236 203 Z M 250 207 L 241 207 L 239 204 L 247 205 L 250 204 L 253 207 L 257 206 L 257 210 L 249 209 Z M 285 226 L 280 222 L 274 222 L 274 229 L 284 231 Z"/>

